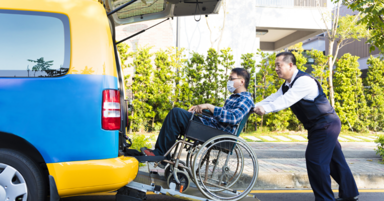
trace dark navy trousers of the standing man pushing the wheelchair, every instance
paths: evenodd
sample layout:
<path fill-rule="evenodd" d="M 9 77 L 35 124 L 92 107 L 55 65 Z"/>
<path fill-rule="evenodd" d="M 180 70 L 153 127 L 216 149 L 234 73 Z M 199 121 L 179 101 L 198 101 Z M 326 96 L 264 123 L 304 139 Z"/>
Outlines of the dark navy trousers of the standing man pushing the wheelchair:
<path fill-rule="evenodd" d="M 337 119 L 308 131 L 308 145 L 305 151 L 306 169 L 316 201 L 334 200 L 329 175 L 339 184 L 339 197 L 358 195 L 352 172 L 337 140 L 340 129 L 341 122 Z"/>

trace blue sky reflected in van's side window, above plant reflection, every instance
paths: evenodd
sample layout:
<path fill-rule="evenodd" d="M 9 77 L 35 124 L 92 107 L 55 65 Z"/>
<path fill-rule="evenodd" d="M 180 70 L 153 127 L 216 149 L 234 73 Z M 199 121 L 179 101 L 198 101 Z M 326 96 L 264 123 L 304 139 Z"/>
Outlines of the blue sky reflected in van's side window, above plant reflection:
<path fill-rule="evenodd" d="M 37 60 L 53 60 L 51 69 L 64 61 L 64 26 L 49 16 L 0 13 L 0 70 L 32 69 Z"/>

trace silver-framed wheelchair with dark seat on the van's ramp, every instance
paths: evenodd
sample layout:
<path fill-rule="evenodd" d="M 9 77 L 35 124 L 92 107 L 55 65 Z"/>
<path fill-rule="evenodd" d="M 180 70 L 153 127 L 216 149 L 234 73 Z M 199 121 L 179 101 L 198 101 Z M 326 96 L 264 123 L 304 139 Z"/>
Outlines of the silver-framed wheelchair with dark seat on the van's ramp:
<path fill-rule="evenodd" d="M 164 154 L 172 152 L 165 168 L 168 185 L 176 183 L 180 192 L 187 190 L 193 182 L 207 198 L 213 200 L 239 200 L 245 197 L 256 183 L 258 175 L 257 157 L 252 148 L 239 134 L 251 112 L 236 125 L 235 135 L 202 123 L 192 117 L 183 135 Z M 203 110 L 205 116 L 212 116 Z M 186 161 L 181 161 L 181 153 L 187 151 Z M 153 156 L 152 156 L 153 157 Z"/>

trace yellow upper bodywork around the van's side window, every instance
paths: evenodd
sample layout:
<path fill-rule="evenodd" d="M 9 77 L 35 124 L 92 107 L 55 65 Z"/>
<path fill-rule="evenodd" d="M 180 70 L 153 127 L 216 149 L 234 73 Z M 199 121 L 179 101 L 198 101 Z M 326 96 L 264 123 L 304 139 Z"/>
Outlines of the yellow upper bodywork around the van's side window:
<path fill-rule="evenodd" d="M 0 9 L 65 14 L 70 26 L 68 74 L 117 77 L 112 36 L 103 5 L 97 0 L 4 0 Z"/>

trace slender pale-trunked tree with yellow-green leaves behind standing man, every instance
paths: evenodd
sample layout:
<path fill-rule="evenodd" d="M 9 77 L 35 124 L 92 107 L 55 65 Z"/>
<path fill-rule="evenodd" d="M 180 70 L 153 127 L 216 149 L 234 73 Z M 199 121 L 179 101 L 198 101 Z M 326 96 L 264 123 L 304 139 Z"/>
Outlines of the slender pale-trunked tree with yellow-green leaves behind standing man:
<path fill-rule="evenodd" d="M 369 35 L 369 31 L 362 23 L 357 23 L 360 13 L 355 16 L 346 15 L 339 17 L 340 1 L 337 0 L 337 8 L 333 9 L 333 18 L 331 27 L 327 26 L 327 14 L 323 13 L 320 6 L 322 19 L 326 27 L 326 37 L 328 39 L 328 83 L 329 83 L 329 99 L 330 104 L 334 107 L 334 90 L 333 90 L 333 65 L 336 61 L 338 50 L 344 45 L 351 43 L 353 40 L 359 40 Z M 317 4 L 318 1 L 317 1 Z M 336 49 L 333 53 L 333 44 L 336 42 Z"/>

